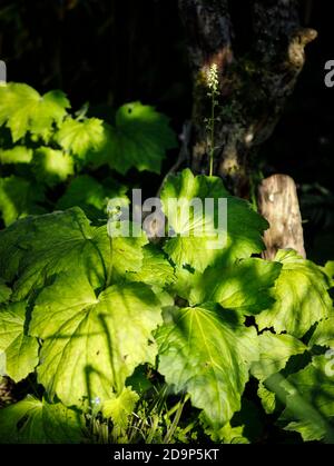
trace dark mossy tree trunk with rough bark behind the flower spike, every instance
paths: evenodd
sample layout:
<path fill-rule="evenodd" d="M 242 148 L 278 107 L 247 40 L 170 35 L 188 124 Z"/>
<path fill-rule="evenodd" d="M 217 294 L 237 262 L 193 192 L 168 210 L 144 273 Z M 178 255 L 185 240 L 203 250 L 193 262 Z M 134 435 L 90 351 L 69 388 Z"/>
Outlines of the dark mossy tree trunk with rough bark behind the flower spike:
<path fill-rule="evenodd" d="M 238 196 L 248 192 L 248 155 L 273 132 L 303 68 L 304 47 L 316 32 L 301 27 L 296 0 L 255 0 L 249 50 L 234 53 L 227 0 L 179 0 L 193 69 L 191 167 L 208 171 L 206 73 L 219 75 L 219 121 L 215 128 L 215 172 Z"/>

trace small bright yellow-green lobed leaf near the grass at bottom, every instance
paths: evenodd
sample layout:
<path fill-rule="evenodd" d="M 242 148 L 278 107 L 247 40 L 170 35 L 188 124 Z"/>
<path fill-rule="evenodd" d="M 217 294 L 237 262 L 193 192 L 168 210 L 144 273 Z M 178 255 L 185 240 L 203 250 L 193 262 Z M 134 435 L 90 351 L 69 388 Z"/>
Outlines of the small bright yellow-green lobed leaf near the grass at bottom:
<path fill-rule="evenodd" d="M 111 418 L 115 426 L 125 430 L 138 399 L 139 395 L 136 391 L 125 387 L 119 396 L 114 396 L 104 403 L 102 415 L 107 419 Z"/>

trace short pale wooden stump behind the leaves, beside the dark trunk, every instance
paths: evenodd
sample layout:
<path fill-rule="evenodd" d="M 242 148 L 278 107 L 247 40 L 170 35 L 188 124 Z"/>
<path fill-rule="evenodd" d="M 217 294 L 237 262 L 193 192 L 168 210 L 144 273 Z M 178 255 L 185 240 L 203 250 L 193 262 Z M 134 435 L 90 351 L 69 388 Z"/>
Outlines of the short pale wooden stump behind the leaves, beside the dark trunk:
<path fill-rule="evenodd" d="M 297 190 L 287 175 L 273 175 L 258 187 L 258 209 L 271 225 L 264 234 L 263 258 L 273 260 L 278 249 L 292 248 L 306 257 Z"/>

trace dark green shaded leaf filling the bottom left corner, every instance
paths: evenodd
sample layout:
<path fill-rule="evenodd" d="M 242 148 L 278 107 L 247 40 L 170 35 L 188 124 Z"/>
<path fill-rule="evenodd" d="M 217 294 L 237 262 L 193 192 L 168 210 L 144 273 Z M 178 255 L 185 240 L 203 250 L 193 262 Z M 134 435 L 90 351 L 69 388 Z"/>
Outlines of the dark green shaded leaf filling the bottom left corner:
<path fill-rule="evenodd" d="M 2 444 L 79 444 L 84 429 L 84 419 L 75 410 L 30 395 L 0 409 Z"/>

